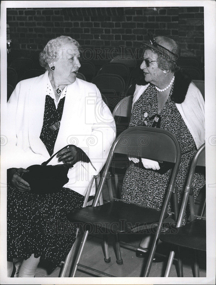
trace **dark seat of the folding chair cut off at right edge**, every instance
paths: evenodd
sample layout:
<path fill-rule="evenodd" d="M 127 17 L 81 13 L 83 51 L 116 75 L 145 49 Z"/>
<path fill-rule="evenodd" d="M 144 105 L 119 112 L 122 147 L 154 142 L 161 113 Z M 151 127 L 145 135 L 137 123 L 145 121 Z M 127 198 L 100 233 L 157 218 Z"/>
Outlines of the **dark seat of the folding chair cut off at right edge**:
<path fill-rule="evenodd" d="M 176 234 L 161 234 L 160 240 L 166 243 L 206 251 L 206 221 L 195 219 L 184 227 L 176 228 Z"/>

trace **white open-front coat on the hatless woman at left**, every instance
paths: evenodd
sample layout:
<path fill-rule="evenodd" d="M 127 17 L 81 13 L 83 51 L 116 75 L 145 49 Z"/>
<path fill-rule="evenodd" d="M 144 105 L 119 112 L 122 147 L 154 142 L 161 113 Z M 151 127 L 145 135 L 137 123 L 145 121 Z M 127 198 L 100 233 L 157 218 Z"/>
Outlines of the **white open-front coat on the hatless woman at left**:
<path fill-rule="evenodd" d="M 11 157 L 7 168 L 27 168 L 50 158 L 40 140 L 47 80 L 48 71 L 19 82 L 8 101 L 6 151 Z M 97 175 L 105 164 L 115 136 L 115 121 L 99 89 L 78 78 L 68 85 L 54 153 L 67 144 L 74 144 L 91 162 L 77 162 L 70 168 L 69 182 L 64 187 L 85 195 L 92 176 Z M 58 163 L 63 162 L 58 162 L 55 157 L 49 164 Z"/>

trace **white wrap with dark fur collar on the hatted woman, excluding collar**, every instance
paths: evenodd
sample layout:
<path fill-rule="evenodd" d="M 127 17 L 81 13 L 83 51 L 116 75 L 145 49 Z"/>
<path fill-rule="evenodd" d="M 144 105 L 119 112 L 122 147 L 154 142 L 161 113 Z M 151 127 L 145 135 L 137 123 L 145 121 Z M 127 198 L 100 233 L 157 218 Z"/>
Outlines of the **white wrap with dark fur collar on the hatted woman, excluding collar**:
<path fill-rule="evenodd" d="M 149 84 L 136 85 L 132 109 L 134 103 L 148 86 Z M 201 92 L 193 82 L 189 84 L 184 102 L 181 104 L 176 103 L 176 107 L 188 127 L 198 149 L 205 143 L 205 102 Z"/>

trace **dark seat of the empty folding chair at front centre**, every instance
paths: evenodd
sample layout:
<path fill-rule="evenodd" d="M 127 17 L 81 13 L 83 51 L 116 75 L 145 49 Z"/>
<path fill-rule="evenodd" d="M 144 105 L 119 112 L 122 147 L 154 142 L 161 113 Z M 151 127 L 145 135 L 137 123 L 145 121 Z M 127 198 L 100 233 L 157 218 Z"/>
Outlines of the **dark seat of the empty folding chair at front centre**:
<path fill-rule="evenodd" d="M 141 225 L 155 227 L 160 214 L 159 209 L 114 199 L 101 206 L 75 210 L 68 217 L 72 222 L 89 225 L 91 229 L 102 229 L 102 233 L 133 233 Z"/>

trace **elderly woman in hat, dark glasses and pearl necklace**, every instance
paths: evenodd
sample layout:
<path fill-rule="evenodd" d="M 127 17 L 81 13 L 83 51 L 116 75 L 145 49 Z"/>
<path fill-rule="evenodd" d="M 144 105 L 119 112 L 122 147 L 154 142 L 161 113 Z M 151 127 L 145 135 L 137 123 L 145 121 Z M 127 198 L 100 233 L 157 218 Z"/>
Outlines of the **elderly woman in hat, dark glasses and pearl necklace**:
<path fill-rule="evenodd" d="M 182 150 L 176 179 L 180 203 L 190 163 L 205 142 L 204 100 L 199 89 L 177 65 L 179 45 L 165 36 L 154 38 L 149 34 L 149 37 L 150 42 L 142 45 L 144 55 L 140 66 L 147 84 L 136 85 L 129 127 L 157 127 L 176 135 Z M 172 166 L 145 158 L 129 160 L 132 163 L 123 181 L 122 199 L 161 208 Z M 194 198 L 204 185 L 204 175 L 195 173 L 192 183 Z M 170 206 L 168 210 L 171 210 Z M 187 216 L 185 213 L 184 224 Z M 146 235 L 140 246 L 148 248 L 150 241 L 151 235 Z M 145 253 L 137 250 L 136 256 L 145 257 Z"/>

